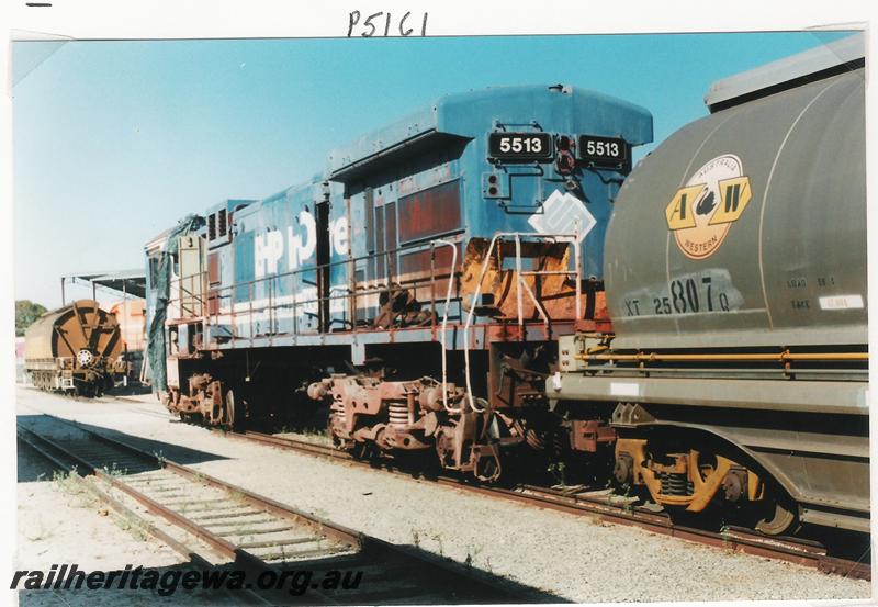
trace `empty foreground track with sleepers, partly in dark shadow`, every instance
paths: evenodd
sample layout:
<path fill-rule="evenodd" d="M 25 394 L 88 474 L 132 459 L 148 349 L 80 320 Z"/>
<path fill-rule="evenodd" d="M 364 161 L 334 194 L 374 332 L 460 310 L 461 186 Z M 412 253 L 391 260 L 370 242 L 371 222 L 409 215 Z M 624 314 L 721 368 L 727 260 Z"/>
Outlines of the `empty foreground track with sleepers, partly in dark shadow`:
<path fill-rule="evenodd" d="M 286 588 L 267 595 L 251 592 L 257 600 L 320 605 L 558 602 L 417 549 L 364 536 L 75 421 L 46 417 L 71 428 L 74 436 L 50 437 L 20 423 L 19 438 L 55 467 L 74 471 L 79 482 L 120 515 L 138 516 L 123 504 L 131 498 L 177 531 L 185 531 L 189 539 L 181 541 L 159 525 L 144 521 L 150 535 L 192 559 L 195 566 L 233 563 L 248 576 L 272 572 L 275 578 L 291 570 L 311 571 L 311 580 L 326 580 L 339 570 L 362 572 L 356 589 L 312 584 L 301 596 L 284 594 Z M 201 554 L 198 547 L 206 547 L 210 555 Z"/>

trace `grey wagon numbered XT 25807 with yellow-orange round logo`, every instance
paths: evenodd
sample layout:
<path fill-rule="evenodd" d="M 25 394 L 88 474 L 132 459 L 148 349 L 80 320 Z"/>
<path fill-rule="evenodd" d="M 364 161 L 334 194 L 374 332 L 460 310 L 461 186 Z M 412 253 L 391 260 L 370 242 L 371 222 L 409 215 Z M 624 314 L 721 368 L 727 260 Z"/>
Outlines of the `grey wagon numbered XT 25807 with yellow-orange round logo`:
<path fill-rule="evenodd" d="M 769 512 L 766 532 L 868 531 L 856 40 L 714 85 L 714 112 L 644 158 L 615 203 L 614 331 L 562 338 L 547 393 L 608 407 L 617 482 L 660 504 Z"/>

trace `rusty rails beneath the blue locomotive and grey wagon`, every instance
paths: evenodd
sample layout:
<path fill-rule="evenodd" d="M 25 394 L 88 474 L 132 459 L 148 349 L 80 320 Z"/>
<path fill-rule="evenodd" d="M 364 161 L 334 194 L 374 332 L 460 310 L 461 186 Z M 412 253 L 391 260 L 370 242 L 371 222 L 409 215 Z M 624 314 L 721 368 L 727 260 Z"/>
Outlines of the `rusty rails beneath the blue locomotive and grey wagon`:
<path fill-rule="evenodd" d="M 311 456 L 372 467 L 370 462 L 357 460 L 349 453 L 306 440 L 249 430 L 244 432 L 227 432 L 227 435 L 236 439 L 259 442 L 261 445 L 282 449 L 291 449 Z M 389 471 L 392 473 L 402 473 L 395 469 L 390 469 Z M 666 514 L 654 513 L 642 507 L 632 506 L 629 499 L 616 496 L 608 490 L 559 491 L 534 485 L 520 485 L 510 490 L 473 484 L 461 479 L 449 476 L 439 476 L 435 480 L 442 485 L 453 486 L 489 497 L 503 498 L 529 506 L 579 516 L 589 516 L 601 521 L 618 525 L 637 526 L 654 533 L 680 538 L 721 548 L 723 550 L 789 561 L 814 567 L 829 574 L 857 580 L 871 580 L 871 565 L 869 563 L 833 557 L 829 554 L 826 548 L 819 542 L 791 537 L 767 537 L 739 527 L 727 527 L 721 531 L 710 531 L 675 525 Z"/>

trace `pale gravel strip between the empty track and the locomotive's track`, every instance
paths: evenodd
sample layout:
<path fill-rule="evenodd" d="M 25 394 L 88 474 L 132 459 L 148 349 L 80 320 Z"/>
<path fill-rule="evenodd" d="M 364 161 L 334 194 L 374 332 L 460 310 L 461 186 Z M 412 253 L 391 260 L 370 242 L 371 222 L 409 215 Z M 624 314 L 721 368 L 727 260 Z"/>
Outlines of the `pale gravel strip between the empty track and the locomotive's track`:
<path fill-rule="evenodd" d="M 20 389 L 18 413 L 32 416 L 36 408 L 150 439 L 155 450 L 206 474 L 386 541 L 470 562 L 559 600 L 871 596 L 868 582 L 225 439 L 170 421 L 151 396 L 137 401 L 72 401 Z M 20 525 L 26 525 L 24 513 L 20 516 Z M 29 541 L 20 536 L 20 542 Z M 46 558 L 57 562 L 54 543 L 46 546 L 52 547 Z M 80 546 L 80 552 L 100 550 Z M 134 557 L 126 558 L 131 562 Z"/>

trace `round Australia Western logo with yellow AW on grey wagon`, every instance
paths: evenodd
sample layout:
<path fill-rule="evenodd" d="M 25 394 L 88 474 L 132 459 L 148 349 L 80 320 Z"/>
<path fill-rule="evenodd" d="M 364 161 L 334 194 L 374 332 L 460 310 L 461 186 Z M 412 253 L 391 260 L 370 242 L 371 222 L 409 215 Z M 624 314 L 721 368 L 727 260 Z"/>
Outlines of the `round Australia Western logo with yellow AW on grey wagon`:
<path fill-rule="evenodd" d="M 686 257 L 706 259 L 722 245 L 751 198 L 741 159 L 718 156 L 695 171 L 667 203 L 667 228 Z"/>

